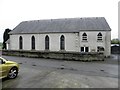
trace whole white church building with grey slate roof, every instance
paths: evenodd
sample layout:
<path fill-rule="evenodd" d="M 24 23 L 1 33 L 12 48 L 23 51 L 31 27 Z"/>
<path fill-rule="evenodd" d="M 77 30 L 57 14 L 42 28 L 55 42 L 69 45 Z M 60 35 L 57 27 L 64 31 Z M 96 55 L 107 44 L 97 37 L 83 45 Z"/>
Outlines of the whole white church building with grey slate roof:
<path fill-rule="evenodd" d="M 8 50 L 111 54 L 111 29 L 104 17 L 23 21 L 9 35 Z"/>

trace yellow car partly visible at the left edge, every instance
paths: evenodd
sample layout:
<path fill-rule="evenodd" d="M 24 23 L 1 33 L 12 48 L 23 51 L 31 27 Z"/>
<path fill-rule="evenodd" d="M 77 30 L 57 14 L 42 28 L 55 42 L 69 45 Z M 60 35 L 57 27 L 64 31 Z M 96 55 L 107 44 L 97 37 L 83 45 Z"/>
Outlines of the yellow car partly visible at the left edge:
<path fill-rule="evenodd" d="M 0 57 L 0 79 L 5 77 L 14 79 L 18 75 L 18 71 L 18 63 Z"/>

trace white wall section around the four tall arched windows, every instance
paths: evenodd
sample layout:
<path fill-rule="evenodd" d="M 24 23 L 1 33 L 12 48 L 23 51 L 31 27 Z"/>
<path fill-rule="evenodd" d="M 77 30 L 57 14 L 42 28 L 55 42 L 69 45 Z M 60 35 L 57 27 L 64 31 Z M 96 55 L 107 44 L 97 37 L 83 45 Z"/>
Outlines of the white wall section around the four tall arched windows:
<path fill-rule="evenodd" d="M 45 50 L 45 36 L 49 36 L 50 51 L 60 50 L 60 37 L 65 37 L 65 50 L 75 51 L 75 33 L 47 33 L 10 35 L 11 50 L 19 50 L 19 37 L 23 37 L 23 50 L 31 50 L 31 37 L 35 36 L 35 50 Z"/>

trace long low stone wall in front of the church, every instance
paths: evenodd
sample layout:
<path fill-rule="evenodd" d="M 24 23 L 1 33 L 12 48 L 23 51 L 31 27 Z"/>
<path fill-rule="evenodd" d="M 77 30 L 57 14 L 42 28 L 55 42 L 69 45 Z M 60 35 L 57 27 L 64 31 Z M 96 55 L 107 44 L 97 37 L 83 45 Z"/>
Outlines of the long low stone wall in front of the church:
<path fill-rule="evenodd" d="M 52 58 L 79 61 L 103 61 L 104 55 L 97 52 L 51 52 L 51 51 L 25 51 L 25 50 L 2 50 L 2 55 L 35 57 L 35 58 Z"/>

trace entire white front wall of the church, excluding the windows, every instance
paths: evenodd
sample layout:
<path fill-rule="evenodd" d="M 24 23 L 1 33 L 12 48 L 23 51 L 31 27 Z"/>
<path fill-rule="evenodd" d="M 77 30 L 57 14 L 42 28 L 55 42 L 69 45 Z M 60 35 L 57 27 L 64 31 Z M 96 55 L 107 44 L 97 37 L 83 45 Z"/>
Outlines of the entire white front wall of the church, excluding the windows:
<path fill-rule="evenodd" d="M 89 47 L 89 52 L 92 49 L 95 49 L 97 52 L 97 46 L 102 46 L 105 48 L 105 55 L 110 55 L 110 40 L 111 32 L 110 31 L 101 31 L 103 35 L 103 41 L 97 41 L 97 31 L 85 31 L 88 36 L 88 41 L 82 41 L 81 31 L 79 33 L 46 33 L 46 34 L 18 34 L 10 35 L 10 49 L 19 50 L 19 37 L 23 37 L 23 50 L 31 50 L 31 37 L 35 36 L 35 50 L 45 50 L 45 36 L 49 36 L 49 49 L 50 51 L 60 51 L 60 37 L 64 35 L 65 37 L 65 50 L 66 51 L 75 51 L 80 52 L 80 48 L 84 46 Z"/>

